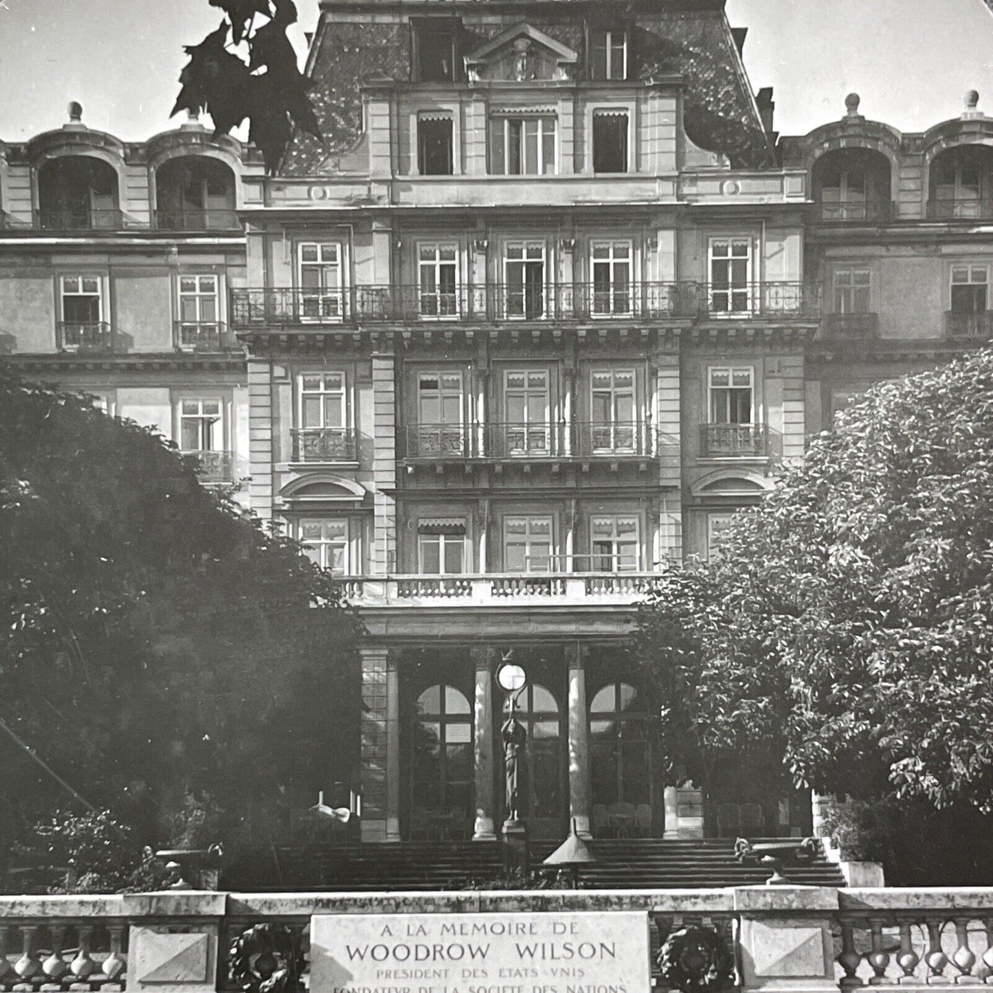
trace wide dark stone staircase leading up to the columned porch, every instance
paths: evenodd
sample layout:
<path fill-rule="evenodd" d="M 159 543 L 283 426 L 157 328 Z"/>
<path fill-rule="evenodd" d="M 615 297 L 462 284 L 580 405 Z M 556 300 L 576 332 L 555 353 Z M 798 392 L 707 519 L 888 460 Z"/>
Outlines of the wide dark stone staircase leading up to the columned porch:
<path fill-rule="evenodd" d="M 750 839 L 757 841 L 761 839 Z M 555 842 L 535 842 L 531 863 L 540 864 Z M 623 838 L 590 843 L 597 864 L 584 869 L 585 889 L 695 889 L 761 885 L 767 866 L 742 865 L 728 838 L 668 841 Z M 485 888 L 500 878 L 497 842 L 407 841 L 384 845 L 252 849 L 221 873 L 224 890 L 425 891 Z M 833 863 L 818 856 L 783 874 L 805 886 L 844 886 Z"/>

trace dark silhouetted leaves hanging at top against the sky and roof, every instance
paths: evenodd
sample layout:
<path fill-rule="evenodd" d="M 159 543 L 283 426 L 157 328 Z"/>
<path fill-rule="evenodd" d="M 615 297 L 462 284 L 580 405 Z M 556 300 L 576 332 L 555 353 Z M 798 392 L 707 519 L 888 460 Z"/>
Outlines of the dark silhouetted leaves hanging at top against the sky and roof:
<path fill-rule="evenodd" d="M 302 128 L 323 141 L 307 91 L 310 81 L 297 68 L 286 36 L 297 21 L 293 0 L 210 0 L 223 10 L 220 26 L 199 45 L 188 45 L 190 62 L 180 74 L 172 113 L 181 110 L 213 118 L 213 136 L 248 120 L 248 140 L 275 172 L 293 135 Z M 263 23 L 256 25 L 256 19 Z M 237 50 L 244 51 L 244 58 Z"/>

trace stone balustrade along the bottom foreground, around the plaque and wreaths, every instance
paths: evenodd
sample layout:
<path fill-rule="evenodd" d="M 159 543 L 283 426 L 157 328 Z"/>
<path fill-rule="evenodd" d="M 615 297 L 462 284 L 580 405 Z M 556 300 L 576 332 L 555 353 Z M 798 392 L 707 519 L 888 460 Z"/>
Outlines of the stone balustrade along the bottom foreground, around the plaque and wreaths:
<path fill-rule="evenodd" d="M 993 985 L 993 890 L 746 887 L 0 897 L 0 991 L 233 989 L 227 949 L 260 922 L 286 927 L 309 962 L 315 915 L 569 912 L 643 914 L 652 959 L 677 928 L 711 927 L 734 952 L 741 990 Z"/>

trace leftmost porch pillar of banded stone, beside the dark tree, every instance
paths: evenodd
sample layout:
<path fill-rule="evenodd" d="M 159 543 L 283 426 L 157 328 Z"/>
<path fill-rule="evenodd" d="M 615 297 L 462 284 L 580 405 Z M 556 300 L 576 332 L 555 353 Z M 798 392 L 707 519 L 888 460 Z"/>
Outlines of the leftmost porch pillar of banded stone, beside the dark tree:
<path fill-rule="evenodd" d="M 400 840 L 400 684 L 395 655 L 361 647 L 361 839 Z"/>

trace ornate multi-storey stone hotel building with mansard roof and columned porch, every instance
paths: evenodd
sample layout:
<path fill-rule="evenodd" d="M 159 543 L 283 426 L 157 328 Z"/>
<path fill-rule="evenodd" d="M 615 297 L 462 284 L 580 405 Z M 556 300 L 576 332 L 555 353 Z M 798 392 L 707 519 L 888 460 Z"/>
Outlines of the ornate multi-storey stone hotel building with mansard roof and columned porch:
<path fill-rule="evenodd" d="M 852 96 L 779 139 L 720 0 L 321 16 L 326 140 L 274 177 L 196 124 L 0 146 L 0 343 L 233 451 L 251 509 L 341 578 L 363 711 L 329 782 L 354 775 L 364 841 L 497 836 L 501 659 L 534 836 L 808 829 L 761 771 L 663 787 L 625 638 L 852 395 L 987 340 L 993 119 L 970 96 L 902 135 Z M 63 157 L 85 197 L 44 193 Z"/>

